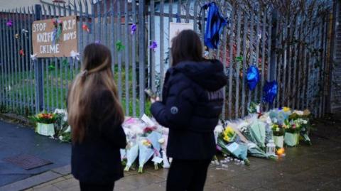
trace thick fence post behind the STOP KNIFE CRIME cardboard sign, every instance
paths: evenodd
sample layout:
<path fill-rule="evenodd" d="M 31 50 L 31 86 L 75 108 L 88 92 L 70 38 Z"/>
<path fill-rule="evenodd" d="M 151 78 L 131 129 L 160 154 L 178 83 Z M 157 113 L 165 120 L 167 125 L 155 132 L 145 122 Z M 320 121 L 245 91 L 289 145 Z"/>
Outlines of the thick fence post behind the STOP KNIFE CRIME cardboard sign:
<path fill-rule="evenodd" d="M 41 5 L 36 4 L 34 21 L 41 19 Z M 43 63 L 42 58 L 37 58 L 34 66 L 35 80 L 36 80 L 36 112 L 43 110 Z"/>

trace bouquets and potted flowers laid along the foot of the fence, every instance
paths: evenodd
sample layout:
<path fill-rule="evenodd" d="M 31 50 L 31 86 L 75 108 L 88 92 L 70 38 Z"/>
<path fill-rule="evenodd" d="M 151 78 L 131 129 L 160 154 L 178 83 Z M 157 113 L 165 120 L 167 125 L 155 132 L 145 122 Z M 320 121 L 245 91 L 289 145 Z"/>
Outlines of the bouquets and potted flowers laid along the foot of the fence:
<path fill-rule="evenodd" d="M 243 119 L 220 121 L 215 128 L 217 155 L 224 159 L 213 164 L 227 163 L 250 165 L 249 157 L 274 159 L 285 155 L 285 146 L 297 146 L 300 141 L 311 145 L 310 111 L 297 111 L 288 107 L 260 111 L 259 104 L 251 103 L 249 115 Z M 71 127 L 67 124 L 67 111 L 55 109 L 32 116 L 36 132 L 63 142 L 71 141 Z M 122 128 L 127 145 L 121 149 L 121 160 L 125 171 L 138 170 L 144 173 L 144 165 L 150 161 L 154 168 L 169 168 L 171 158 L 166 155 L 168 129 L 154 119 L 144 115 L 139 118 L 126 117 Z M 169 159 L 169 160 L 168 160 Z"/>

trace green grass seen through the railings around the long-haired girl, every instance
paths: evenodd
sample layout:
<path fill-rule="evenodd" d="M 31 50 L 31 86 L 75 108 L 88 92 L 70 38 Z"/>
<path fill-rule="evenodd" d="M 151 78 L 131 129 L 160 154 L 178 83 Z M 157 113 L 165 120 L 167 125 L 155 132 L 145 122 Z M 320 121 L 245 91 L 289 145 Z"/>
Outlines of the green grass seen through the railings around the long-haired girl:
<path fill-rule="evenodd" d="M 52 63 L 43 66 L 43 104 L 46 111 L 53 111 L 56 108 L 63 109 L 66 107 L 65 100 L 67 97 L 68 85 L 80 71 L 72 69 L 67 65 L 60 65 L 58 67 L 51 67 L 51 65 L 55 64 Z M 136 100 L 133 100 L 133 72 L 131 70 L 126 72 L 124 67 L 122 67 L 121 76 L 119 76 L 118 71 L 119 69 L 117 65 L 115 65 L 114 80 L 117 83 L 117 87 L 121 87 L 119 89 L 121 90 L 122 107 L 126 110 L 126 94 L 129 94 L 129 116 L 132 116 L 133 114 L 133 101 L 136 105 L 136 116 L 141 116 L 141 114 L 139 114 L 139 82 L 136 80 Z M 33 107 L 36 102 L 36 76 L 34 74 L 34 70 L 1 74 L 1 111 L 13 112 L 23 116 L 36 113 Z M 129 75 L 128 81 L 126 81 L 126 75 Z M 121 77 L 121 80 L 119 80 L 119 77 Z M 138 78 L 136 77 L 136 79 Z M 129 89 L 126 89 L 126 82 Z M 151 103 L 149 100 L 146 100 L 145 105 L 145 113 L 150 115 L 149 108 Z"/>

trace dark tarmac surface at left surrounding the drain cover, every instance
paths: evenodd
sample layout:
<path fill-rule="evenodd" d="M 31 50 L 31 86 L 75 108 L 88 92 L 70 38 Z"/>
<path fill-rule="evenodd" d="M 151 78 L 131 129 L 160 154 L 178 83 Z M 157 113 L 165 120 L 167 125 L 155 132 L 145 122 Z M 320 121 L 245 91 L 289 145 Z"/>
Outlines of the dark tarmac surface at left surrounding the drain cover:
<path fill-rule="evenodd" d="M 67 165 L 70 163 L 70 152 L 70 145 L 67 143 L 39 136 L 28 127 L 0 121 L 0 187 Z M 49 160 L 53 164 L 33 170 L 24 170 L 3 160 L 3 158 L 19 154 L 34 155 Z"/>

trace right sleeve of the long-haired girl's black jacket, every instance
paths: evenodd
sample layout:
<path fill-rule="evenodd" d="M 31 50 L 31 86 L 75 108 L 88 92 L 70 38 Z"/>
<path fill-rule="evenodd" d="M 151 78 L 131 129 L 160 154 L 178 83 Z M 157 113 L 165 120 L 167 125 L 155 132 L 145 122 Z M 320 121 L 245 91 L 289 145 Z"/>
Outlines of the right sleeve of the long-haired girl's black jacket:
<path fill-rule="evenodd" d="M 107 139 L 109 143 L 115 148 L 126 148 L 126 134 L 120 124 L 120 121 L 115 121 L 114 114 L 114 98 L 109 91 L 104 91 L 99 102 L 99 124 L 100 133 L 103 138 Z M 95 113 L 96 114 L 96 113 Z M 97 115 L 96 114 L 96 115 Z"/>

